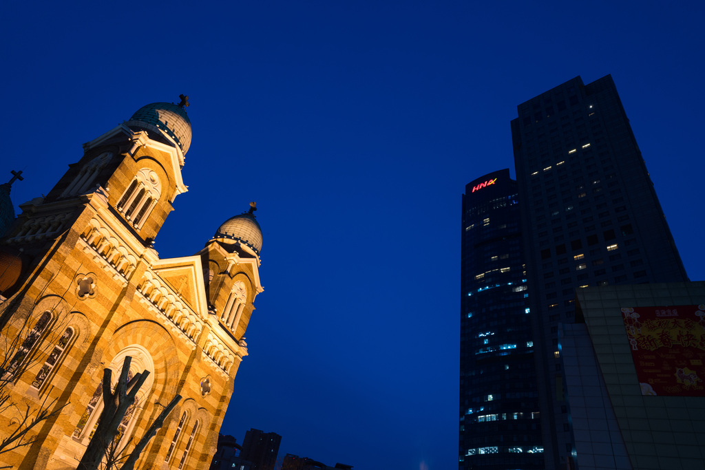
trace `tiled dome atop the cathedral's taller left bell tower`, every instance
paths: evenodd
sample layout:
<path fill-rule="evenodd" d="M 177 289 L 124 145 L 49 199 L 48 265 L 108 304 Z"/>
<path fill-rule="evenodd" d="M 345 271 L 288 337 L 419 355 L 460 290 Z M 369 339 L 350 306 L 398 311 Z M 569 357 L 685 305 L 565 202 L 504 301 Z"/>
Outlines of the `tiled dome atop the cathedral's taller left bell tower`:
<path fill-rule="evenodd" d="M 184 154 L 191 146 L 191 121 L 186 111 L 176 104 L 147 104 L 138 109 L 126 124 L 161 132 L 177 144 Z"/>

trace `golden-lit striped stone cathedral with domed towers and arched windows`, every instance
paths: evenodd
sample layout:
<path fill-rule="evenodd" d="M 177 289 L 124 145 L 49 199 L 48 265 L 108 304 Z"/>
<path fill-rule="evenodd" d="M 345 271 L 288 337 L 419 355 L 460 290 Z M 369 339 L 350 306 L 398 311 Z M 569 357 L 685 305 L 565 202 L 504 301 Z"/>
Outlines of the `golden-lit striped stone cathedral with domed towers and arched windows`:
<path fill-rule="evenodd" d="M 262 292 L 262 230 L 250 203 L 196 254 L 161 259 L 152 247 L 187 191 L 184 106 L 183 95 L 148 104 L 83 144 L 78 162 L 17 217 L 10 183 L 1 186 L 0 440 L 27 426 L 27 415 L 59 412 L 39 420 L 25 445 L 0 447 L 0 468 L 76 469 L 104 407 L 104 370 L 115 386 L 128 356 L 128 379 L 149 374 L 120 421 L 116 450 L 129 454 L 180 395 L 135 468 L 209 465 Z"/>

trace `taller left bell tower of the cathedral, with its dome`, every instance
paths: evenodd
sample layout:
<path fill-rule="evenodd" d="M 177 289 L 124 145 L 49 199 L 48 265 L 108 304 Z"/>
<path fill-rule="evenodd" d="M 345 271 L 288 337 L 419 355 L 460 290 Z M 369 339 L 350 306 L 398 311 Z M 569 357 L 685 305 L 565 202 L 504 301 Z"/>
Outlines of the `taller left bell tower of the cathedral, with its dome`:
<path fill-rule="evenodd" d="M 151 245 L 176 196 L 188 190 L 181 168 L 192 132 L 184 109 L 188 97 L 181 97 L 179 104 L 142 106 L 129 120 L 83 144 L 81 159 L 69 165 L 47 197 L 32 200 L 32 211 L 47 204 L 85 204 L 97 195 L 130 233 Z"/>

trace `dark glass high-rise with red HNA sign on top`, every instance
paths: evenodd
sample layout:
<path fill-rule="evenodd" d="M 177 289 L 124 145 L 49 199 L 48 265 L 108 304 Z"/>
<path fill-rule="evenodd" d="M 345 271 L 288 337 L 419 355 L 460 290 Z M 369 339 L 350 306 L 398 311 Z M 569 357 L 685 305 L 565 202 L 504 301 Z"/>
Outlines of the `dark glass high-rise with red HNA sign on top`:
<path fill-rule="evenodd" d="M 517 183 L 509 170 L 462 197 L 460 468 L 543 469 Z"/>

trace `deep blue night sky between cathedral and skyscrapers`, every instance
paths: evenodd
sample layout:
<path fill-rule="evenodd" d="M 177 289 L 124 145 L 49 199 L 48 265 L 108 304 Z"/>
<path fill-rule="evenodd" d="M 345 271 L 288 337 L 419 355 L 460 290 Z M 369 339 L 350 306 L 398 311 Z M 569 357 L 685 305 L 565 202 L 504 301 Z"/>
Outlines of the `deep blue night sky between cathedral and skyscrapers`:
<path fill-rule="evenodd" d="M 576 75 L 613 75 L 705 279 L 701 1 L 102 3 L 0 6 L 0 180 L 24 171 L 16 205 L 47 194 L 83 142 L 189 95 L 190 190 L 157 250 L 194 254 L 252 200 L 264 231 L 238 442 L 456 468 L 460 194 L 513 167 L 517 104 Z"/>

